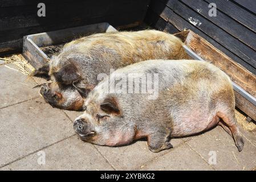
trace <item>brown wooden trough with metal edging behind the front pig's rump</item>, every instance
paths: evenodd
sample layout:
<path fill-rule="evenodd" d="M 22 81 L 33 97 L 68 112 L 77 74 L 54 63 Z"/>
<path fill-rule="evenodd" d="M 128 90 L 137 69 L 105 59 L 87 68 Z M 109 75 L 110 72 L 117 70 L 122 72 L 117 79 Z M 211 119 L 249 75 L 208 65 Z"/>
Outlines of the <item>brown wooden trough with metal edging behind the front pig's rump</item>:
<path fill-rule="evenodd" d="M 193 31 L 174 35 L 185 43 L 184 48 L 193 59 L 208 61 L 229 75 L 233 82 L 236 106 L 256 121 L 256 76 Z"/>

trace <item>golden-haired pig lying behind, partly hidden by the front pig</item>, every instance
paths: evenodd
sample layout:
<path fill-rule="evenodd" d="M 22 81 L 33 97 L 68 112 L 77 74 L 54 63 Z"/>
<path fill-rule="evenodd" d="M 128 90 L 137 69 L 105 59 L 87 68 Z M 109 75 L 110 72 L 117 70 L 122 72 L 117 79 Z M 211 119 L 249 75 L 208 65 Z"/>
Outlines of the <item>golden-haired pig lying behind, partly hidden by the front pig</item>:
<path fill-rule="evenodd" d="M 176 36 L 156 30 L 107 32 L 74 40 L 52 56 L 51 80 L 40 94 L 53 107 L 82 110 L 83 98 L 99 82 L 99 73 L 109 75 L 110 69 L 150 59 L 189 59 L 182 46 Z"/>

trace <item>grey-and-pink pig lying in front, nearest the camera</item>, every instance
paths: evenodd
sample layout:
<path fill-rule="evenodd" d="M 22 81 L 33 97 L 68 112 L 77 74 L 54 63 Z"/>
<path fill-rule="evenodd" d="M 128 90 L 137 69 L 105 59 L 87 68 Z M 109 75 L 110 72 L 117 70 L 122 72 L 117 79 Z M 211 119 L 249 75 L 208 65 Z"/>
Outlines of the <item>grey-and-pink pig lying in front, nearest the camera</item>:
<path fill-rule="evenodd" d="M 157 77 L 157 97 L 149 99 L 148 91 L 127 92 L 128 86 L 135 89 L 135 84 L 125 88 L 132 75 L 149 75 L 147 80 L 153 80 L 152 74 Z M 142 80 L 140 88 L 148 84 Z M 111 82 L 114 92 L 109 91 Z M 148 60 L 117 69 L 88 94 L 83 107 L 74 130 L 85 142 L 100 146 L 123 146 L 147 138 L 149 150 L 159 152 L 173 147 L 170 138 L 200 134 L 216 125 L 234 138 L 239 151 L 244 144 L 230 78 L 205 61 Z"/>

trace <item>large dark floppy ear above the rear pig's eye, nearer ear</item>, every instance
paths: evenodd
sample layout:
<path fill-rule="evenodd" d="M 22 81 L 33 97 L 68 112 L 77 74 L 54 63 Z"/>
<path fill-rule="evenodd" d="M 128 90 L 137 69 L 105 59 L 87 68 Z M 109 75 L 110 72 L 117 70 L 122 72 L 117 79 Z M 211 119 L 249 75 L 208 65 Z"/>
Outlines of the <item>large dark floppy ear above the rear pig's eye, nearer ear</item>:
<path fill-rule="evenodd" d="M 80 79 L 78 68 L 72 62 L 64 65 L 58 72 L 53 73 L 56 81 L 69 85 Z"/>

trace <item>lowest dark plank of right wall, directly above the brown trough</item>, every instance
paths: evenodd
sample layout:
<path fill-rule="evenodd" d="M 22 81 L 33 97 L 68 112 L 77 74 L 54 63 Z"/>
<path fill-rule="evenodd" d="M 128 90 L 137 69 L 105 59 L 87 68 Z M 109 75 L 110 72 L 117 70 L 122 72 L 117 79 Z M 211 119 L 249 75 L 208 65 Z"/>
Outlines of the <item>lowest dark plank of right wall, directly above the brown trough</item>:
<path fill-rule="evenodd" d="M 223 47 L 220 43 L 216 42 L 214 39 L 210 38 L 210 36 L 206 35 L 201 30 L 198 30 L 192 24 L 181 18 L 181 16 L 177 15 L 173 12 L 173 10 L 166 7 L 165 4 L 161 3 L 160 1 L 152 1 L 151 2 L 151 9 L 155 11 L 155 13 L 159 14 L 161 18 L 173 24 L 178 30 L 183 31 L 184 29 L 189 29 L 195 32 L 196 34 L 202 36 L 202 38 L 206 39 L 209 43 L 211 43 L 214 47 L 218 48 L 220 51 L 224 52 L 225 55 L 229 56 L 235 62 L 241 64 L 243 67 L 248 69 L 250 72 L 256 74 L 256 69 L 251 67 L 250 64 L 247 64 L 245 61 L 234 55 L 233 52 L 230 52 L 228 49 Z"/>

